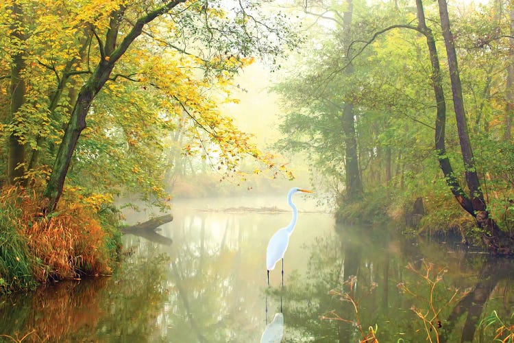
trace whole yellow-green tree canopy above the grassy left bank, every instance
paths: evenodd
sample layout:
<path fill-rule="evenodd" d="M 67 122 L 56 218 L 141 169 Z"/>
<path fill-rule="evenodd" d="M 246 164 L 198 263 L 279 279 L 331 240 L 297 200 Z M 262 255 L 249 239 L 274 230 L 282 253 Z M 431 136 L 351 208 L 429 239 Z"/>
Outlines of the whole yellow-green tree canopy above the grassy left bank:
<path fill-rule="evenodd" d="M 37 180 L 49 211 L 66 174 L 89 192 L 163 196 L 178 131 L 188 137 L 184 154 L 225 173 L 237 173 L 245 154 L 272 163 L 218 105 L 236 101 L 232 76 L 254 58 L 297 44 L 285 14 L 258 1 L 0 6 L 0 182 Z"/>

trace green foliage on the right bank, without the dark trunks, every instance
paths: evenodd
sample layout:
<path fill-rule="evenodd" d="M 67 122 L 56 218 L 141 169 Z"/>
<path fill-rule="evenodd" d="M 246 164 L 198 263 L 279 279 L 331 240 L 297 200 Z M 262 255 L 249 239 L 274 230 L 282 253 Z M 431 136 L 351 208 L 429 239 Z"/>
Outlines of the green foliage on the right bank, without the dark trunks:
<path fill-rule="evenodd" d="M 388 7 L 390 5 L 391 7 Z M 475 151 L 473 170 L 480 177 L 487 211 L 502 230 L 512 232 L 513 156 L 506 126 L 512 75 L 511 22 L 506 3 L 450 8 L 463 83 L 467 126 Z M 360 178 L 365 199 L 357 204 L 339 202 L 338 219 L 359 222 L 384 213 L 404 222 L 416 198 L 423 198 L 426 215 L 418 233 L 458 231 L 480 241 L 472 215 L 462 211 L 444 179 L 435 152 L 436 104 L 426 36 L 417 32 L 416 9 L 405 3 L 354 5 L 351 49 L 345 47 L 341 21 L 325 25 L 323 14 L 342 18 L 345 2 L 308 8 L 314 25 L 306 45 L 276 90 L 288 109 L 278 145 L 287 151 L 307 152 L 315 170 L 336 198 L 345 193 L 345 137 L 341 108 L 354 105 Z M 323 12 L 323 11 L 326 11 Z M 452 106 L 452 87 L 445 46 L 441 39 L 437 3 L 424 3 L 429 29 L 435 36 L 446 98 L 445 156 L 464 193 L 466 171 Z M 346 14 L 348 14 L 347 12 Z M 326 16 L 324 16 L 326 19 Z M 403 27 L 391 27 L 391 25 Z M 389 27 L 389 29 L 384 29 Z M 414 29 L 413 29 L 414 28 Z M 319 39 L 319 32 L 326 32 Z M 380 34 L 377 34 L 380 32 Z M 346 58 L 351 58 L 352 71 Z M 512 117 L 512 115 L 510 114 Z M 440 157 L 440 156 L 439 156 Z M 384 196 L 388 193 L 391 198 Z M 382 204 L 380 205 L 380 202 Z M 376 212 L 374 212 L 376 211 Z"/>

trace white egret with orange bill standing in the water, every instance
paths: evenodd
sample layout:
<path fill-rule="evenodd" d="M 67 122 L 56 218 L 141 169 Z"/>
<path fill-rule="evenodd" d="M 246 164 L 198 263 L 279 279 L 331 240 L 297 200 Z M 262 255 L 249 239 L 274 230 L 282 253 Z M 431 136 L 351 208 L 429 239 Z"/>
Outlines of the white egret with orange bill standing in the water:
<path fill-rule="evenodd" d="M 304 193 L 313 193 L 313 191 L 308 191 L 306 189 L 301 188 L 292 188 L 291 191 L 287 194 L 287 202 L 291 209 L 293 209 L 293 219 L 291 219 L 291 223 L 285 228 L 281 228 L 278 230 L 271 239 L 269 239 L 268 248 L 266 250 L 266 267 L 268 270 L 268 285 L 269 285 L 269 271 L 275 269 L 275 265 L 277 262 L 282 259 L 282 286 L 284 285 L 284 254 L 286 253 L 287 246 L 289 244 L 289 236 L 293 233 L 296 225 L 296 219 L 298 215 L 298 211 L 296 209 L 295 204 L 293 204 L 293 194 L 297 192 Z"/>

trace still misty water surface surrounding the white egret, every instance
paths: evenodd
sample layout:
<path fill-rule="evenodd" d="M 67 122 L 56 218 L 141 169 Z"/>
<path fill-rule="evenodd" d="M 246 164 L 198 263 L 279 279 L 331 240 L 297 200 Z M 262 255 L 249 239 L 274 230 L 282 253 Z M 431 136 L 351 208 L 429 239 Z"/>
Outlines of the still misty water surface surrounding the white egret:
<path fill-rule="evenodd" d="M 370 326 L 380 342 L 492 342 L 498 326 L 480 320 L 509 322 L 512 260 L 336 225 L 294 201 L 283 289 L 280 263 L 267 287 L 265 256 L 291 220 L 285 197 L 182 200 L 162 230 L 123 237 L 114 275 L 0 298 L 0 342 L 260 342 L 276 314 L 282 342 L 358 342 Z M 223 211 L 238 206 L 287 212 Z M 127 223 L 148 215 L 127 211 Z"/>

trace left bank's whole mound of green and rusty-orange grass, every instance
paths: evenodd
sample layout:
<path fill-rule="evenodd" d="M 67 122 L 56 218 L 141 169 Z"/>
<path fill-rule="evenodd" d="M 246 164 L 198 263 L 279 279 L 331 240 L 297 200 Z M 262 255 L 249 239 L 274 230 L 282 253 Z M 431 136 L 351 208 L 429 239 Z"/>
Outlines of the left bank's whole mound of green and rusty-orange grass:
<path fill-rule="evenodd" d="M 73 201 L 72 201 L 73 199 Z M 47 217 L 36 191 L 0 192 L 0 294 L 49 280 L 110 274 L 121 247 L 117 217 L 100 196 L 68 191 Z"/>

